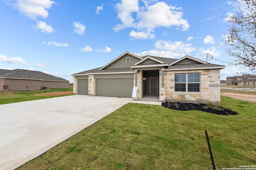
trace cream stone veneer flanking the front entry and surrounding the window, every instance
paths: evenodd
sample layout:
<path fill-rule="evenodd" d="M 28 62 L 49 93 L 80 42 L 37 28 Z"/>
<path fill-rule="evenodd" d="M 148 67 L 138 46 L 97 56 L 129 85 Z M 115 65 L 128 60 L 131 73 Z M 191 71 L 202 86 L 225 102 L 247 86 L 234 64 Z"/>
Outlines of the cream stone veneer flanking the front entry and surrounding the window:
<path fill-rule="evenodd" d="M 142 98 L 142 72 L 137 73 L 137 95 L 134 100 Z M 175 74 L 200 73 L 200 92 L 175 92 Z M 135 74 L 134 74 L 135 86 Z M 159 70 L 159 100 L 162 102 L 207 103 L 220 105 L 220 69 L 164 71 Z"/>

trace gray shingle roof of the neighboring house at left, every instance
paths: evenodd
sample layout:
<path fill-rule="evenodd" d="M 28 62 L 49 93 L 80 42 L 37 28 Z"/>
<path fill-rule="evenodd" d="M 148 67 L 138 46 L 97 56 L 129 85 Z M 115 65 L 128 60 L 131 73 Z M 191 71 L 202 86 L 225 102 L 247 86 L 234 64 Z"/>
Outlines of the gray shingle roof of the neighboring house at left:
<path fill-rule="evenodd" d="M 68 80 L 50 74 L 46 74 L 40 71 L 34 70 L 4 70 L 0 69 L 0 78 L 20 78 L 20 79 L 34 79 L 34 80 L 50 80 L 50 81 L 62 81 L 69 82 Z"/>

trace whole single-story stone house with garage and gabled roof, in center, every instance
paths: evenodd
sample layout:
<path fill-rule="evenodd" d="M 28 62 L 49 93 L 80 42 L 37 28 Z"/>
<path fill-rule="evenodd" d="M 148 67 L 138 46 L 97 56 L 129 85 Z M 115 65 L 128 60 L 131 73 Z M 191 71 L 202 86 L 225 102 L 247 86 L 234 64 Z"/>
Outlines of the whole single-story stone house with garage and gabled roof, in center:
<path fill-rule="evenodd" d="M 110 63 L 72 74 L 74 94 L 89 96 L 156 96 L 159 101 L 207 103 L 220 101 L 220 69 L 184 56 L 181 59 L 144 56 L 125 52 Z"/>

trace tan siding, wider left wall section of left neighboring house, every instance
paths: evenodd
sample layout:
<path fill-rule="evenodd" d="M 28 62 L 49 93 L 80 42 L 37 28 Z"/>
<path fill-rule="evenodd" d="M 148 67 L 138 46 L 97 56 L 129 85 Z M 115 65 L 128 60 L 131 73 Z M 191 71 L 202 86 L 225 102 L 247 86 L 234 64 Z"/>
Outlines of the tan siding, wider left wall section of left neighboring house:
<path fill-rule="evenodd" d="M 4 85 L 8 86 L 8 90 L 40 90 L 40 80 L 22 80 L 22 79 L 4 79 Z M 29 85 L 27 88 L 26 86 Z"/>

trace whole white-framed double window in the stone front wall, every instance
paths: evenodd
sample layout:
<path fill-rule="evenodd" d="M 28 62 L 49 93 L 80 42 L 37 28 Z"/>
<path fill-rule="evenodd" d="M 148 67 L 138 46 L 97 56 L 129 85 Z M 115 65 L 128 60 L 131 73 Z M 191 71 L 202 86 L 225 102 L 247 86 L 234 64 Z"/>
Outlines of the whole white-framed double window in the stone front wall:
<path fill-rule="evenodd" d="M 200 92 L 200 74 L 175 74 L 175 92 Z"/>

